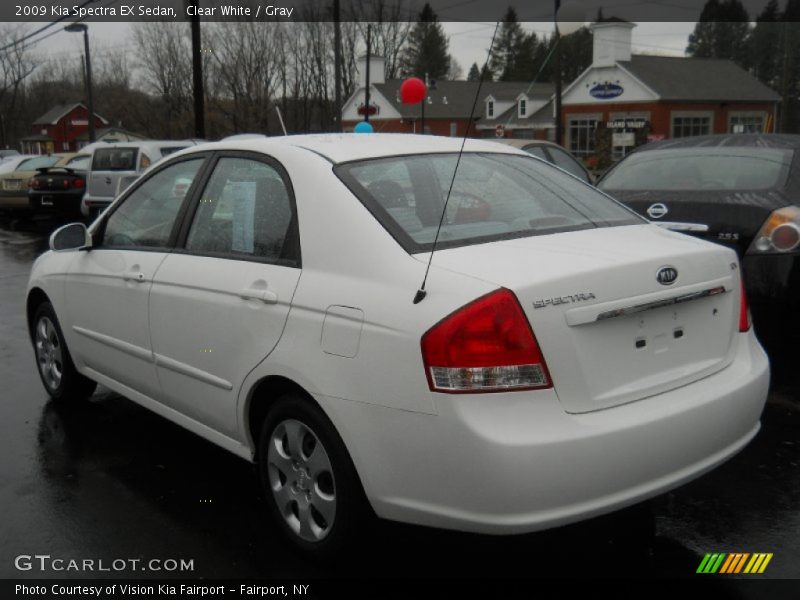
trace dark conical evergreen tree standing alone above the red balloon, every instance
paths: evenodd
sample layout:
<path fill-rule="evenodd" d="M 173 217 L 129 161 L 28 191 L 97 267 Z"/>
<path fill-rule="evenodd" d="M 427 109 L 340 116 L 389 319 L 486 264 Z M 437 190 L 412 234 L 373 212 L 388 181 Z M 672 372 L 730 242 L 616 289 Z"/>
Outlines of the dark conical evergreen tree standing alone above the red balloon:
<path fill-rule="evenodd" d="M 439 18 L 425 4 L 417 22 L 408 36 L 408 45 L 403 52 L 400 68 L 403 75 L 424 79 L 443 79 L 450 69 L 450 55 L 447 53 L 448 40 L 439 23 Z"/>

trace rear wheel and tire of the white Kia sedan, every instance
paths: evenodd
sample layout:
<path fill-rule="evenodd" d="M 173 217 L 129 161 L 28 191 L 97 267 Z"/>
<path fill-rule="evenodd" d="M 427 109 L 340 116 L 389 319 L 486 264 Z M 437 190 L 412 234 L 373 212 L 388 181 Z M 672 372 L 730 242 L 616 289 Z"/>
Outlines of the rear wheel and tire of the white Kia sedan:
<path fill-rule="evenodd" d="M 335 560 L 372 518 L 344 442 L 299 394 L 276 400 L 264 418 L 258 471 L 273 521 L 310 558 Z"/>

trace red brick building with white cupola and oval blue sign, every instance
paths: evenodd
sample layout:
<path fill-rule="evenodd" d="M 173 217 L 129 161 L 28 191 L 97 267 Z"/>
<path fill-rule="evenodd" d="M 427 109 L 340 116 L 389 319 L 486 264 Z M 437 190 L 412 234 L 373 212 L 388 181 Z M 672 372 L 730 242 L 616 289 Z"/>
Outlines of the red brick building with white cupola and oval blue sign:
<path fill-rule="evenodd" d="M 573 154 L 602 165 L 651 140 L 774 131 L 773 90 L 730 60 L 632 54 L 635 26 L 591 25 L 592 65 L 562 95 Z"/>

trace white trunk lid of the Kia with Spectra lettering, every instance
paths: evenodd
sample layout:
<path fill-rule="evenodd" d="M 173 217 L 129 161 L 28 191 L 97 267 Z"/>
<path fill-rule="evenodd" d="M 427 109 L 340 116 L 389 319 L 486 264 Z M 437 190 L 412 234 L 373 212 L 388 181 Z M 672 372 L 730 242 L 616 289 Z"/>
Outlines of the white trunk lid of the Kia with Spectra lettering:
<path fill-rule="evenodd" d="M 433 261 L 517 295 L 567 412 L 652 396 L 732 359 L 738 265 L 721 246 L 637 225 L 443 250 Z M 664 268 L 677 274 L 668 285 L 657 280 Z"/>

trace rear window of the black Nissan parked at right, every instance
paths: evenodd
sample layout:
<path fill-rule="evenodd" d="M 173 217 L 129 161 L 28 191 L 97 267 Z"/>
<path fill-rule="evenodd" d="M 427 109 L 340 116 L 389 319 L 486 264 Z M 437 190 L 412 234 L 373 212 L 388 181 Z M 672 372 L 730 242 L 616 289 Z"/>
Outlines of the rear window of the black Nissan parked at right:
<path fill-rule="evenodd" d="M 672 148 L 631 154 L 600 183 L 604 190 L 766 190 L 786 181 L 792 150 Z"/>

